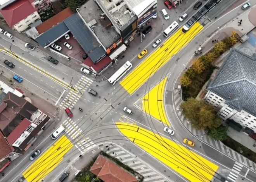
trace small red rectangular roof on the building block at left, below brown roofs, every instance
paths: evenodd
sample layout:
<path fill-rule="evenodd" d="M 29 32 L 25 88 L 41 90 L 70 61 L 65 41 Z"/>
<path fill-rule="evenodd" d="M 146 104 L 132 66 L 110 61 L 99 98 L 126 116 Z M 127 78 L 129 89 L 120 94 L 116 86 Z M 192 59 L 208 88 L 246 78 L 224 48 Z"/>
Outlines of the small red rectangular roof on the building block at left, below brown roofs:
<path fill-rule="evenodd" d="M 9 142 L 9 144 L 12 145 L 29 125 L 31 125 L 31 122 L 27 118 L 24 118 L 21 123 L 7 137 L 7 141 Z"/>

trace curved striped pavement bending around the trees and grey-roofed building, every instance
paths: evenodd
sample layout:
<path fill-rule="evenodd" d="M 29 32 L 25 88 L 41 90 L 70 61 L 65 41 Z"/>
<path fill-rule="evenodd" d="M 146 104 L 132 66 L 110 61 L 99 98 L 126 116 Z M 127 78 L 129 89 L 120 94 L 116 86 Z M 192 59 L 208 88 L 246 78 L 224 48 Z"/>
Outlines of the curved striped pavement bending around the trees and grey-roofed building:
<path fill-rule="evenodd" d="M 221 141 L 216 141 L 216 140 L 210 138 L 203 130 L 197 130 L 192 127 L 189 120 L 187 118 L 185 118 L 184 115 L 182 115 L 182 110 L 180 109 L 180 104 L 182 103 L 182 99 L 181 99 L 181 95 L 180 95 L 179 91 L 176 91 L 173 94 L 173 103 L 175 104 L 176 113 L 177 113 L 180 121 L 186 127 L 186 129 L 189 130 L 190 133 L 192 133 L 195 137 L 199 138 L 200 140 L 204 141 L 205 143 L 208 143 L 210 146 L 213 146 L 214 148 L 221 151 L 222 153 L 230 156 L 230 158 L 233 158 L 235 161 L 238 161 L 239 163 L 250 168 L 251 170 L 256 171 L 256 164 L 253 161 L 248 160 L 247 158 L 240 155 L 236 151 L 228 148 Z"/>

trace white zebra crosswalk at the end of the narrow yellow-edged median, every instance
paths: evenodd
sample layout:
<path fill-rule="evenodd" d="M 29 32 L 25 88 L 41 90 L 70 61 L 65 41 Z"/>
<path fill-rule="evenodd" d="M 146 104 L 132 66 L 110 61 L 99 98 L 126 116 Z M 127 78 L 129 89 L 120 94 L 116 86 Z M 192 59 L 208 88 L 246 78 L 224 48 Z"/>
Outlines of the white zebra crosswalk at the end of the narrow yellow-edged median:
<path fill-rule="evenodd" d="M 66 109 L 72 109 L 74 105 L 77 103 L 77 101 L 81 98 L 83 93 L 88 90 L 89 86 L 92 84 L 92 80 L 82 76 L 80 80 L 76 83 L 74 90 L 70 90 L 67 96 L 61 101 L 60 105 L 62 108 Z"/>

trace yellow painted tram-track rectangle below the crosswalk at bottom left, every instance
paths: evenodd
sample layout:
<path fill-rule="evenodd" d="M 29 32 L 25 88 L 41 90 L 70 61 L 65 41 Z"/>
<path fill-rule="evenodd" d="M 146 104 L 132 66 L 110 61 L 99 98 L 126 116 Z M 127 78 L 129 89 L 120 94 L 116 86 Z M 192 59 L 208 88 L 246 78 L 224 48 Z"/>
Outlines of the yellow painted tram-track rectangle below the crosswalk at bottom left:
<path fill-rule="evenodd" d="M 71 141 L 63 135 L 47 151 L 40 154 L 40 157 L 22 175 L 28 182 L 41 182 L 63 160 L 63 156 L 72 147 Z"/>

